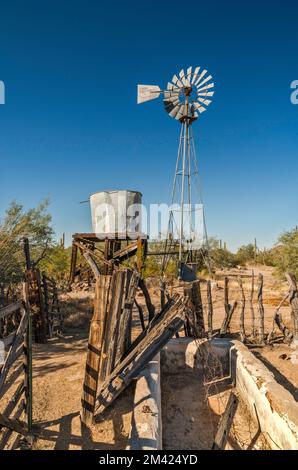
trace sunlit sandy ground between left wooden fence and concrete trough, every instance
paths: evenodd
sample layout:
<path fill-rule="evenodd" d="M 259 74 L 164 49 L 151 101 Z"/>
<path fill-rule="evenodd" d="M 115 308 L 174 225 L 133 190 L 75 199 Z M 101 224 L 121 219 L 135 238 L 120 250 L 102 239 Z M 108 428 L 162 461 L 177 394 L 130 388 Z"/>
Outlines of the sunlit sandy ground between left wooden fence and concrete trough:
<path fill-rule="evenodd" d="M 79 334 L 38 345 L 34 352 L 34 422 L 44 430 L 35 449 L 125 449 L 133 387 L 89 431 L 81 424 L 80 399 L 87 340 Z"/>

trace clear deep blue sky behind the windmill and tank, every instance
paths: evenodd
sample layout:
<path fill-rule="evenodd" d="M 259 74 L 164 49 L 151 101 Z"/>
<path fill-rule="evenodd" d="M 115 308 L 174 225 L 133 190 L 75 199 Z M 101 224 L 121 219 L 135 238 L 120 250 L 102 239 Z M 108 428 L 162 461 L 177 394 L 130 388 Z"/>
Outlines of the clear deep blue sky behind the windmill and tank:
<path fill-rule="evenodd" d="M 137 83 L 202 65 L 214 103 L 194 128 L 208 231 L 232 249 L 297 224 L 298 4 L 6 0 L 0 4 L 0 214 L 46 197 L 59 236 L 89 231 L 107 188 L 170 197 L 179 125 Z"/>

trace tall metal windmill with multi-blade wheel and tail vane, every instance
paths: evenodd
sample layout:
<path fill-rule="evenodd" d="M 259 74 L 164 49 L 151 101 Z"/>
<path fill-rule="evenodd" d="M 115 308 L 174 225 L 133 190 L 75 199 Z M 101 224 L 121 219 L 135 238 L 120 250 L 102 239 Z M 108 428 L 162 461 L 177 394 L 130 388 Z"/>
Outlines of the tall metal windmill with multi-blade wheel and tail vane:
<path fill-rule="evenodd" d="M 198 181 L 194 184 L 199 175 L 192 124 L 211 104 L 214 95 L 212 76 L 201 67 L 189 67 L 186 72 L 182 69 L 168 82 L 166 90 L 157 85 L 138 85 L 137 103 L 154 100 L 160 95 L 163 95 L 166 112 L 181 124 L 163 269 L 173 252 L 173 246 L 178 245 L 178 275 L 183 278 L 183 269 L 193 261 L 195 248 L 204 245 L 208 247 L 201 195 L 194 201 L 194 190 L 200 189 L 200 185 Z M 179 210 L 175 209 L 177 204 Z M 197 211 L 201 211 L 201 240 L 198 240 L 196 226 Z M 203 250 L 200 251 L 203 253 Z M 208 259 L 205 261 L 210 269 Z"/>

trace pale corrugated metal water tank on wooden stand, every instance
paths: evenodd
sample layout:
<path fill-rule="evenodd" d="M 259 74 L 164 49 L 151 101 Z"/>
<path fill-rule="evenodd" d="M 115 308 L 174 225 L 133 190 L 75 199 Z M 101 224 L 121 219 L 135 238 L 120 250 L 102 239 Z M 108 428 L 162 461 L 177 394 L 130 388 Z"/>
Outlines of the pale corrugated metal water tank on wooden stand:
<path fill-rule="evenodd" d="M 141 232 L 142 194 L 139 191 L 101 191 L 90 196 L 93 232 L 114 238 Z"/>

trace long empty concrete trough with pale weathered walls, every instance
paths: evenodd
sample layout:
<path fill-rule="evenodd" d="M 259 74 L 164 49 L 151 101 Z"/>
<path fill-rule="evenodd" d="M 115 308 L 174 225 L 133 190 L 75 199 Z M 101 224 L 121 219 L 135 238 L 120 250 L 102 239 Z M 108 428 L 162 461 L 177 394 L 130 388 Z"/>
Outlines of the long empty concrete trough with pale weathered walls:
<path fill-rule="evenodd" d="M 265 448 L 298 449 L 298 403 L 245 345 L 220 338 L 178 338 L 163 348 L 137 380 L 129 450 L 183 449 L 183 445 L 211 448 L 213 430 L 207 429 L 209 415 L 204 411 L 206 397 L 202 386 L 206 382 L 206 370 L 212 372 L 207 377 L 210 394 L 213 386 L 216 393 L 219 389 L 233 389 L 245 404 L 248 419 L 266 440 Z M 170 398 L 164 396 L 169 390 Z M 185 400 L 184 392 L 187 392 Z M 169 407 L 175 411 L 175 400 L 185 401 L 192 408 L 173 414 Z M 169 426 L 171 413 L 173 421 Z M 178 421 L 177 415 L 180 415 Z M 193 439 L 188 437 L 183 441 L 184 434 L 179 434 L 183 427 L 185 435 L 194 434 Z M 194 447 L 198 434 L 202 438 L 198 447 Z"/>

